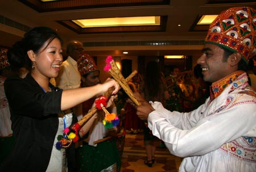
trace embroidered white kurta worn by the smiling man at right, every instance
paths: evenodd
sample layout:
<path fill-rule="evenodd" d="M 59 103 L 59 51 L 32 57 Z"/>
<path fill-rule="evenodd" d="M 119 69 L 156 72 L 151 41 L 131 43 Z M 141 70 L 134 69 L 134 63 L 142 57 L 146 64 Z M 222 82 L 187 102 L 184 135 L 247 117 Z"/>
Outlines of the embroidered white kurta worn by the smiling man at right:
<path fill-rule="evenodd" d="M 172 154 L 185 157 L 179 171 L 256 171 L 256 99 L 246 73 L 192 112 L 150 103 L 148 127 Z"/>

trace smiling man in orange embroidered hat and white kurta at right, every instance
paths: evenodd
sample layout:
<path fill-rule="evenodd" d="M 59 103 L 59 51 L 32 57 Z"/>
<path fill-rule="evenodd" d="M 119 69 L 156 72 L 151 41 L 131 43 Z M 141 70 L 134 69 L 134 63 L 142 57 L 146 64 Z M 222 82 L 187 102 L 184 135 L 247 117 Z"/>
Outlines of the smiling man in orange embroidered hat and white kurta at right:
<path fill-rule="evenodd" d="M 256 53 L 255 33 L 251 7 L 222 11 L 210 24 L 197 64 L 212 85 L 196 110 L 171 112 L 137 94 L 137 115 L 172 154 L 184 157 L 179 171 L 255 171 L 256 93 L 246 74 Z"/>

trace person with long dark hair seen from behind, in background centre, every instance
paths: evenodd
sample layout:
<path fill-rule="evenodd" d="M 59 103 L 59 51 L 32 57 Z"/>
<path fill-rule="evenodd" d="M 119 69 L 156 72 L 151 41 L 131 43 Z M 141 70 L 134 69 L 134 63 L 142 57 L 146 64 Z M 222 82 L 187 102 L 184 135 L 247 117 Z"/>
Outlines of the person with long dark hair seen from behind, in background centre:
<path fill-rule="evenodd" d="M 149 61 L 146 65 L 144 82 L 141 84 L 140 93 L 146 100 L 154 100 L 164 102 L 164 83 L 161 79 L 159 64 L 156 61 Z M 152 82 L 154 81 L 154 82 Z M 148 128 L 147 123 L 144 125 L 144 145 L 147 153 L 147 160 L 144 164 L 152 167 L 155 162 L 156 146 L 160 144 L 160 140 L 152 135 L 152 131 Z"/>

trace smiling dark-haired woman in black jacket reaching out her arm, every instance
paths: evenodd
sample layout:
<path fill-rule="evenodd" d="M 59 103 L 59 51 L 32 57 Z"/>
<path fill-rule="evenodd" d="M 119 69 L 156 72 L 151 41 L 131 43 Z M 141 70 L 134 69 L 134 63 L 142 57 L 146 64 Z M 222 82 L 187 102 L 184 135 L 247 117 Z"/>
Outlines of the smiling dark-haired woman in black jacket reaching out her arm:
<path fill-rule="evenodd" d="M 55 144 L 58 135 L 63 135 L 64 128 L 76 118 L 63 111 L 104 94 L 109 87 L 114 86 L 113 94 L 119 90 L 113 79 L 79 89 L 53 87 L 49 78 L 59 73 L 63 61 L 61 43 L 61 38 L 51 28 L 35 27 L 8 51 L 10 65 L 13 68 L 30 66 L 30 73 L 24 79 L 9 77 L 4 83 L 15 145 L 0 171 L 67 171 L 65 151 L 57 150 Z M 72 154 L 67 153 L 69 155 Z"/>

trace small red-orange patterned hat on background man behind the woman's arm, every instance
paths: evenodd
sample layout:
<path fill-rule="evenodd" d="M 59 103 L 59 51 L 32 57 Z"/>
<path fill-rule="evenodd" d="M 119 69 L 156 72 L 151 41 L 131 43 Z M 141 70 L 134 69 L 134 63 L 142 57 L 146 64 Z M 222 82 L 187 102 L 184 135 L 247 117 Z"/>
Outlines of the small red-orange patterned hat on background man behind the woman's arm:
<path fill-rule="evenodd" d="M 85 52 L 79 54 L 79 58 L 77 59 L 77 68 L 81 75 L 98 70 L 93 58 Z"/>

